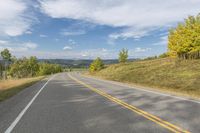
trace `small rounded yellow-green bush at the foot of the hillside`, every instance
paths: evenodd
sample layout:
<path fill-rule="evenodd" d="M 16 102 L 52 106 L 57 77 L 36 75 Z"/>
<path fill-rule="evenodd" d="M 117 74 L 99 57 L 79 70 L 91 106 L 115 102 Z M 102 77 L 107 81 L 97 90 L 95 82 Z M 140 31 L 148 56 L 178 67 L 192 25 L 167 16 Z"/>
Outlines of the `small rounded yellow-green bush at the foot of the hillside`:
<path fill-rule="evenodd" d="M 95 71 L 99 71 L 101 69 L 104 68 L 104 63 L 101 60 L 101 58 L 96 58 L 91 64 L 90 64 L 90 72 L 95 72 Z"/>

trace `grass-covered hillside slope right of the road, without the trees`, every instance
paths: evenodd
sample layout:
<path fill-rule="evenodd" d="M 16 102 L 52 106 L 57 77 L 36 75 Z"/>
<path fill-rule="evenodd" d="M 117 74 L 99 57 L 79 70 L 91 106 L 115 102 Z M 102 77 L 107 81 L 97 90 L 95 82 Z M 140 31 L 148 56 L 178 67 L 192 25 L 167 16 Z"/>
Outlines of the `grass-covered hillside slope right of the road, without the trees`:
<path fill-rule="evenodd" d="M 94 75 L 200 97 L 200 60 L 165 58 L 135 61 L 109 65 Z"/>

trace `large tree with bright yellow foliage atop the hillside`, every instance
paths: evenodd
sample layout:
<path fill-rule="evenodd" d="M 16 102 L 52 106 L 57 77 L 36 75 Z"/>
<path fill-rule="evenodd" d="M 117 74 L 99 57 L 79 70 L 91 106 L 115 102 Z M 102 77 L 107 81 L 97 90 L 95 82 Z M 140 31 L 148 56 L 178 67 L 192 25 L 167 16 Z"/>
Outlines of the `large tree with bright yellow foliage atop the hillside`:
<path fill-rule="evenodd" d="M 200 14 L 189 16 L 171 29 L 168 36 L 169 55 L 182 59 L 200 58 Z"/>

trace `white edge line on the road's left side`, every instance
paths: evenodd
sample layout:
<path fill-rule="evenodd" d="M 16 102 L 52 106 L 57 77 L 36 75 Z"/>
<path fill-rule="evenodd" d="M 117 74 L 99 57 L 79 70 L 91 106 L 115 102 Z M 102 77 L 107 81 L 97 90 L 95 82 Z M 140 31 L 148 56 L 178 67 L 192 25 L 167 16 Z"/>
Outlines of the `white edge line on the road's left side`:
<path fill-rule="evenodd" d="M 51 81 L 54 77 L 55 77 L 55 75 L 52 76 L 51 78 L 49 78 L 49 80 L 42 86 L 42 88 L 40 88 L 40 90 L 35 94 L 35 96 L 26 105 L 26 107 L 19 113 L 19 115 L 17 116 L 17 118 L 12 122 L 12 124 L 6 129 L 6 131 L 4 133 L 11 133 L 12 132 L 12 130 L 15 128 L 15 126 L 20 121 L 20 119 L 22 118 L 22 116 L 26 113 L 26 111 L 28 110 L 28 108 L 31 106 L 31 104 L 35 101 L 35 99 L 37 98 L 37 96 L 40 94 L 40 92 L 45 88 L 45 86 L 49 83 L 49 81 Z"/>

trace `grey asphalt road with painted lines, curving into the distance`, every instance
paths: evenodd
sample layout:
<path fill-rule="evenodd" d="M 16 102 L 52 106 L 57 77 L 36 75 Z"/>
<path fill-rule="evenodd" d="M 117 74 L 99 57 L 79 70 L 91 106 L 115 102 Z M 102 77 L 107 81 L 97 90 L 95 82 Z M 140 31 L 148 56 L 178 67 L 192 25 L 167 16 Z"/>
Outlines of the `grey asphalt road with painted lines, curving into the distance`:
<path fill-rule="evenodd" d="M 200 102 L 61 73 L 0 103 L 0 132 L 200 132 Z"/>

